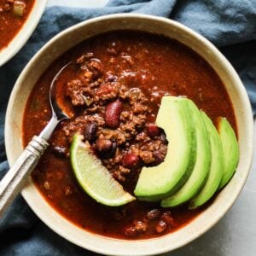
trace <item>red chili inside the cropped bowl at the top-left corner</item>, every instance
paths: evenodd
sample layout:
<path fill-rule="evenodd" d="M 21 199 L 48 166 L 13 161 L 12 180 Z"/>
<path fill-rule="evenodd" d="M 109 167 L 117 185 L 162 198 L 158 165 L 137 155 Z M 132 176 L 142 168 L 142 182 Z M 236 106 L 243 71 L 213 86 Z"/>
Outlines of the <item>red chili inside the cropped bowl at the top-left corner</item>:
<path fill-rule="evenodd" d="M 30 14 L 34 0 L 0 0 L 0 50 L 7 47 Z"/>

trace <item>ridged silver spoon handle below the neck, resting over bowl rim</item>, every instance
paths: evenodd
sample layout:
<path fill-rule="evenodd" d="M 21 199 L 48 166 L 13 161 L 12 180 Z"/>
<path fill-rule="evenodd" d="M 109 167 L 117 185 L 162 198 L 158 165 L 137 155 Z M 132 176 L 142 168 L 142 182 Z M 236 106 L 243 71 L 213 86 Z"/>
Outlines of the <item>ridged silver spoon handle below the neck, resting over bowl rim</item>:
<path fill-rule="evenodd" d="M 0 182 L 0 218 L 6 211 L 9 204 L 15 199 L 24 187 L 27 177 L 38 164 L 40 156 L 48 147 L 48 143 L 43 137 L 34 136 L 32 141 L 26 146 L 14 166 L 3 177 Z"/>

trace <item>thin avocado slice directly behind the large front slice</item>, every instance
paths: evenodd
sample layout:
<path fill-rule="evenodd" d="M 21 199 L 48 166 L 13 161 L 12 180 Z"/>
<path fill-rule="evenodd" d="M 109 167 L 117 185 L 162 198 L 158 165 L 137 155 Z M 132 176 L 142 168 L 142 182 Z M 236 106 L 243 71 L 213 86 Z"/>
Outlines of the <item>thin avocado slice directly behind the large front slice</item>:
<path fill-rule="evenodd" d="M 201 189 L 203 184 L 206 182 L 210 166 L 211 166 L 211 148 L 207 136 L 207 129 L 203 119 L 201 118 L 200 110 L 195 106 L 195 103 L 186 99 L 189 103 L 192 115 L 191 119 L 194 119 L 196 141 L 197 141 L 197 155 L 194 169 L 187 180 L 183 184 L 177 193 L 163 199 L 161 201 L 161 207 L 176 207 L 177 205 L 183 204 L 189 201 L 196 193 Z"/>

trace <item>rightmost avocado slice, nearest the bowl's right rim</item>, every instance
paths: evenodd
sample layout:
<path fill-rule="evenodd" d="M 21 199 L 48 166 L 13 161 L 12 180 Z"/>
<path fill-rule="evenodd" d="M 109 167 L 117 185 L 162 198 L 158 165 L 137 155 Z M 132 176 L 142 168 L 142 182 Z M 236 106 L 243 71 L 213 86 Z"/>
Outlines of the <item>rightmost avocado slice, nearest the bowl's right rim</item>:
<path fill-rule="evenodd" d="M 218 189 L 222 189 L 230 181 L 234 172 L 236 172 L 236 166 L 239 160 L 239 147 L 235 131 L 227 119 L 219 119 L 218 133 L 224 151 L 224 174 L 218 187 Z"/>

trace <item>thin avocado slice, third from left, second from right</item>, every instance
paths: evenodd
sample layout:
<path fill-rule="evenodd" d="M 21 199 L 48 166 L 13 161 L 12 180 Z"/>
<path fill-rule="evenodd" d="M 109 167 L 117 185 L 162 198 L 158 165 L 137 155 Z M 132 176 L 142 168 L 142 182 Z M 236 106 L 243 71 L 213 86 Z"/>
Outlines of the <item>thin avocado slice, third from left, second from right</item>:
<path fill-rule="evenodd" d="M 201 112 L 201 118 L 207 127 L 207 133 L 211 144 L 212 163 L 207 182 L 201 191 L 189 201 L 189 209 L 195 209 L 206 203 L 212 195 L 218 190 L 218 185 L 223 176 L 224 171 L 224 153 L 220 142 L 220 137 L 212 120 L 207 117 L 207 114 Z"/>

